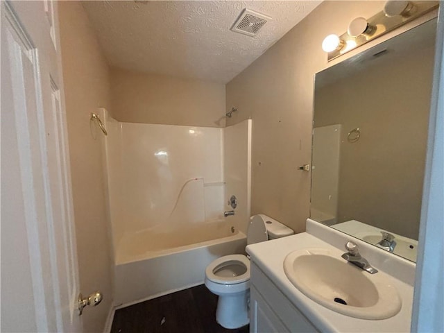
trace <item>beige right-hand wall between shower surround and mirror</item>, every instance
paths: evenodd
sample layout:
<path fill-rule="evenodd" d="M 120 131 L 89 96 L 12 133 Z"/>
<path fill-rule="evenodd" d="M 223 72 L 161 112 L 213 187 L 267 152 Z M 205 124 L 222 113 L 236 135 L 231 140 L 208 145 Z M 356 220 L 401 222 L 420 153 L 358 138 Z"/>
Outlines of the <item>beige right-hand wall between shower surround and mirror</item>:
<path fill-rule="evenodd" d="M 341 35 L 355 17 L 371 17 L 384 1 L 325 1 L 226 86 L 227 105 L 239 112 L 228 125 L 253 119 L 252 207 L 296 232 L 309 216 L 310 173 L 298 166 L 311 160 L 314 74 L 400 33 L 379 37 L 327 64 L 326 35 Z"/>

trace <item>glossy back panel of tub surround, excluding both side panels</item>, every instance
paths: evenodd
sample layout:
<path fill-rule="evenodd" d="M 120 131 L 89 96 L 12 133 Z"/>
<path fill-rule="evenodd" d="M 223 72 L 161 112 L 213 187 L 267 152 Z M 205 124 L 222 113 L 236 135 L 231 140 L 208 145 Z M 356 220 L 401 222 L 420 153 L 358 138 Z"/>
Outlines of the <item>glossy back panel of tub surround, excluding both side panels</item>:
<path fill-rule="evenodd" d="M 221 128 L 123 123 L 122 205 L 128 217 L 126 232 L 159 223 L 205 221 L 205 201 L 212 198 L 204 198 L 204 184 L 222 182 L 218 149 L 221 131 Z M 185 185 L 193 178 L 203 179 Z"/>

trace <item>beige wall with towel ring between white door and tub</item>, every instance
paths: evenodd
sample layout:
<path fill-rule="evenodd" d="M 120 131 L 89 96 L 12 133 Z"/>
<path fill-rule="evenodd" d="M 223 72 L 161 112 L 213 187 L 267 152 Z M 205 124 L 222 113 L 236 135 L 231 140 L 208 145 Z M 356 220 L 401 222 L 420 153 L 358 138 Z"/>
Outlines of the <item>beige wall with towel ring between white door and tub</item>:
<path fill-rule="evenodd" d="M 110 106 L 109 69 L 81 3 L 60 1 L 59 17 L 80 291 L 103 292 L 99 306 L 83 311 L 83 327 L 103 332 L 112 304 L 112 250 L 101 140 L 90 133 L 89 113 Z"/>

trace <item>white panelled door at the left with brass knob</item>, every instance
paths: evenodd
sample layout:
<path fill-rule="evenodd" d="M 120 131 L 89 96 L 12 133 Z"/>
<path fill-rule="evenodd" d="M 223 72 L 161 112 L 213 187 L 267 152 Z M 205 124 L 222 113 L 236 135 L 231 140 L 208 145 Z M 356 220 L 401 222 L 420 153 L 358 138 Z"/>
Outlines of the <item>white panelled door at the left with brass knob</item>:
<path fill-rule="evenodd" d="M 56 1 L 1 2 L 1 331 L 80 332 Z"/>

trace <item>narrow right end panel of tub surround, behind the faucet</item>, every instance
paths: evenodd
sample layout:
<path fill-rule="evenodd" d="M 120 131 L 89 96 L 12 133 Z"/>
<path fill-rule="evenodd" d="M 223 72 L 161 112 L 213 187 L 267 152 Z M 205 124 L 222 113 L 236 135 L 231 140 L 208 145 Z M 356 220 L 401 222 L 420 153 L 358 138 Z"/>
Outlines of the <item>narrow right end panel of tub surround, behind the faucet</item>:
<path fill-rule="evenodd" d="M 237 198 L 234 216 L 225 219 L 246 234 L 250 217 L 251 191 L 251 128 L 252 120 L 246 119 L 224 130 L 225 210 L 230 196 Z"/>

